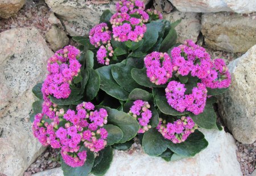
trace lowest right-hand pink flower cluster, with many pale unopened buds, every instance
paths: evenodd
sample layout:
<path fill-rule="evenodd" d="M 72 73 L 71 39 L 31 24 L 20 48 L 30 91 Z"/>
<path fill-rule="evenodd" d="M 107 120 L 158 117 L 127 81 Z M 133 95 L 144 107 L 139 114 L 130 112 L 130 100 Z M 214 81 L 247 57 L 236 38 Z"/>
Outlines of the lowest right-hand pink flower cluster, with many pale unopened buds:
<path fill-rule="evenodd" d="M 185 141 L 198 127 L 191 117 L 182 116 L 177 121 L 168 122 L 167 124 L 166 120 L 160 118 L 159 125 L 156 128 L 165 139 L 176 144 Z"/>

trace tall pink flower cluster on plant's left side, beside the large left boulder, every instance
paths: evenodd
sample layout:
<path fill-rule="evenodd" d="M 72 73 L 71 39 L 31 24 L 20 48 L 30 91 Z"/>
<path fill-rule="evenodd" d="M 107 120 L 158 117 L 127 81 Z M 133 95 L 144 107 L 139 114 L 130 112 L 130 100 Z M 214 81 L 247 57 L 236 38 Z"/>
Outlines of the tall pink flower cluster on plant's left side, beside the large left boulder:
<path fill-rule="evenodd" d="M 48 100 L 49 95 L 55 98 L 68 98 L 71 94 L 69 84 L 74 76 L 80 72 L 81 64 L 77 61 L 80 51 L 74 46 L 65 46 L 64 49 L 56 51 L 49 58 L 47 70 L 49 74 L 42 85 L 44 100 Z"/>

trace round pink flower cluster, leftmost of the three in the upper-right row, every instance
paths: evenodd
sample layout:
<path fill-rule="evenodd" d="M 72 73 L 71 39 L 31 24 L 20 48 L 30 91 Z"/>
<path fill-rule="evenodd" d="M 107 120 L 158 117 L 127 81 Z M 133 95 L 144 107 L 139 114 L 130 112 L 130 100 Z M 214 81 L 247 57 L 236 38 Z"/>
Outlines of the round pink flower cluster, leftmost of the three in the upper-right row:
<path fill-rule="evenodd" d="M 152 52 L 144 58 L 147 77 L 156 85 L 167 83 L 172 77 L 171 58 L 167 53 Z"/>

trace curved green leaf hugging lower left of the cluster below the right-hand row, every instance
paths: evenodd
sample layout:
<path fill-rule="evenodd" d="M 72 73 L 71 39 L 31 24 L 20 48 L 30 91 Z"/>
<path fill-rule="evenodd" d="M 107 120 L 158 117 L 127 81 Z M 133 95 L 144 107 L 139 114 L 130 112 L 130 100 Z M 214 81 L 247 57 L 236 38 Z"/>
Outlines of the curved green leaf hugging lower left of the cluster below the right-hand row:
<path fill-rule="evenodd" d="M 174 108 L 172 108 L 167 102 L 164 89 L 153 89 L 153 91 L 154 91 L 153 95 L 155 95 L 156 105 L 158 106 L 159 110 L 162 111 L 162 113 L 168 114 L 168 115 L 175 115 L 175 116 L 189 113 L 188 111 L 184 111 L 181 113 L 175 110 Z"/>

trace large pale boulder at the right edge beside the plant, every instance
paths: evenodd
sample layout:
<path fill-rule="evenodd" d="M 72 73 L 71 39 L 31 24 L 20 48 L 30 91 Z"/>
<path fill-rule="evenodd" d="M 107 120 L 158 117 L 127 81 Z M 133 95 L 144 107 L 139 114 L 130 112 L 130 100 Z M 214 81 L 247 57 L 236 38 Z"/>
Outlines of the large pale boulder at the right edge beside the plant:
<path fill-rule="evenodd" d="M 256 45 L 228 65 L 232 84 L 218 99 L 220 114 L 234 138 L 256 140 Z"/>

